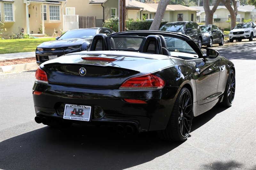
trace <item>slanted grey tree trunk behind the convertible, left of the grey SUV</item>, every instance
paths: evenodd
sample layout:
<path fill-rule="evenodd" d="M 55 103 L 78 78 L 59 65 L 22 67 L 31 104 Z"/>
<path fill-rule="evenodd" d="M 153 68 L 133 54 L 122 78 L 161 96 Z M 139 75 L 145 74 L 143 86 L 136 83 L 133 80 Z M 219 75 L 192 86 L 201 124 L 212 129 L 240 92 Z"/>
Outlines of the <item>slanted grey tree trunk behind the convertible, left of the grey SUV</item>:
<path fill-rule="evenodd" d="M 159 26 L 162 22 L 162 19 L 164 17 L 164 12 L 166 10 L 167 5 L 169 4 L 170 0 L 160 0 L 157 10 L 156 10 L 156 15 L 154 18 L 153 23 L 151 24 L 149 30 L 158 30 Z"/>

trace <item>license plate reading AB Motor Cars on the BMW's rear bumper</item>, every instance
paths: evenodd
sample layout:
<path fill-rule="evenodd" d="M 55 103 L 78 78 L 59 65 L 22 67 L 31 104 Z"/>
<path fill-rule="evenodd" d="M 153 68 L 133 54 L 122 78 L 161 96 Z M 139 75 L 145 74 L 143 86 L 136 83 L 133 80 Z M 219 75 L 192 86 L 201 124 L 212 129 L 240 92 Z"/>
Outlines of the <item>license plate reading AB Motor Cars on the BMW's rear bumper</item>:
<path fill-rule="evenodd" d="M 66 104 L 63 119 L 90 121 L 91 106 Z"/>

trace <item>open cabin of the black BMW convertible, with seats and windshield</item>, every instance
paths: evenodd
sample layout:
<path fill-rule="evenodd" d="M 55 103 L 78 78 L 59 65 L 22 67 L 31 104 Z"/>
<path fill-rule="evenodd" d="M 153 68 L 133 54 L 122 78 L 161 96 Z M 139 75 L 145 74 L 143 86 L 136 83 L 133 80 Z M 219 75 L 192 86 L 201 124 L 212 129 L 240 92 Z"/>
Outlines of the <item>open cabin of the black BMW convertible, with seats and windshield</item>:
<path fill-rule="evenodd" d="M 105 50 L 161 54 L 184 60 L 199 58 L 197 53 L 185 40 L 163 35 L 148 35 L 147 37 L 95 35 L 89 51 Z"/>

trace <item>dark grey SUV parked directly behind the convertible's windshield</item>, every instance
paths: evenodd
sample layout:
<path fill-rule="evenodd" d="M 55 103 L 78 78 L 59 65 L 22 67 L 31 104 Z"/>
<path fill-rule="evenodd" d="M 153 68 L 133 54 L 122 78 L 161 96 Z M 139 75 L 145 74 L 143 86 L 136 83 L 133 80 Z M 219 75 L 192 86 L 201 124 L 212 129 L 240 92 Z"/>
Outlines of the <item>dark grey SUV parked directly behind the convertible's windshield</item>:
<path fill-rule="evenodd" d="M 196 44 L 202 47 L 202 32 L 200 26 L 192 21 L 169 22 L 159 28 L 159 31 L 177 32 L 188 35 Z"/>

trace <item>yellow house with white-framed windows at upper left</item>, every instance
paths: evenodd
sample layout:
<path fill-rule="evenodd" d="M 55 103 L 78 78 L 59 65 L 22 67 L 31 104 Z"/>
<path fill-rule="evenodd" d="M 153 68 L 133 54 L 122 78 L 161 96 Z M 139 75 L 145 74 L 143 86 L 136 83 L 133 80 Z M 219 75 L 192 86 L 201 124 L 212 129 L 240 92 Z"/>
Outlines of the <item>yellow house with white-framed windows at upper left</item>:
<path fill-rule="evenodd" d="M 62 28 L 67 0 L 0 0 L 3 38 L 12 34 L 49 34 Z M 43 11 L 43 12 L 42 12 Z M 55 30 L 55 31 L 54 31 Z"/>

